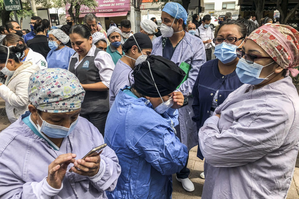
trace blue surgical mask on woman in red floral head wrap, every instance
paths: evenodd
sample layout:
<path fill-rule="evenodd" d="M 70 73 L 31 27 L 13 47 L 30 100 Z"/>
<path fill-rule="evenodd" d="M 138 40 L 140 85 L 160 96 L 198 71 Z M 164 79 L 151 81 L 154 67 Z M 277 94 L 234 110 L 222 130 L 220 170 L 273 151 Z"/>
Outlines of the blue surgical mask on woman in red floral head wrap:
<path fill-rule="evenodd" d="M 266 66 L 269 66 L 272 63 L 274 62 L 271 62 Z M 244 58 L 241 58 L 237 63 L 236 73 L 242 83 L 250 84 L 250 85 L 258 85 L 262 81 L 268 79 L 268 77 L 274 73 L 274 72 L 271 73 L 265 78 L 259 77 L 263 67 L 266 66 L 262 66 L 257 63 L 249 64 L 246 62 Z"/>

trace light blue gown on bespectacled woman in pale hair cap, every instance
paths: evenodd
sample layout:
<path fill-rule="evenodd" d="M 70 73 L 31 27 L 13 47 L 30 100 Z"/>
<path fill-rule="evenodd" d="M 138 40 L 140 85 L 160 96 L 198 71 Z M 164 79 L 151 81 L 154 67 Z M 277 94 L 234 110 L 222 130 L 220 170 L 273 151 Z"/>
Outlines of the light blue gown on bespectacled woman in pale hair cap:
<path fill-rule="evenodd" d="M 69 59 L 75 53 L 74 49 L 67 46 L 60 50 L 50 50 L 47 55 L 48 68 L 63 68 L 68 70 Z"/>

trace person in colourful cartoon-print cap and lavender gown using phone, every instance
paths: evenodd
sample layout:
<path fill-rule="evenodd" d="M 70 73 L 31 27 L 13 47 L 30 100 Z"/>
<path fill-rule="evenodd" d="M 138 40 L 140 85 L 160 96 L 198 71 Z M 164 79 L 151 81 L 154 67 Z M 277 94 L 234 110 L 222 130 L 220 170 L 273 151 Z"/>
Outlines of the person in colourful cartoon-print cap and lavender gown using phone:
<path fill-rule="evenodd" d="M 111 148 L 80 159 L 104 144 L 97 128 L 79 116 L 84 94 L 67 70 L 31 75 L 29 111 L 0 134 L 2 197 L 95 199 L 115 188 L 121 168 Z"/>

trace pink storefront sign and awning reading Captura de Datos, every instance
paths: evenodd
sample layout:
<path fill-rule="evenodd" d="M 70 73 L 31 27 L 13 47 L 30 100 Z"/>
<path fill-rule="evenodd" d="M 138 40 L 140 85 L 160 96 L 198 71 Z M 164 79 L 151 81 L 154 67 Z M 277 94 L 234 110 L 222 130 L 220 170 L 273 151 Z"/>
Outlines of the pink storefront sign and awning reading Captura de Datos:
<path fill-rule="evenodd" d="M 130 0 L 96 0 L 98 6 L 95 9 L 89 9 L 82 5 L 80 8 L 80 16 L 85 16 L 87 13 L 107 13 L 107 12 L 125 12 L 130 11 Z M 70 4 L 65 5 L 66 14 Z"/>

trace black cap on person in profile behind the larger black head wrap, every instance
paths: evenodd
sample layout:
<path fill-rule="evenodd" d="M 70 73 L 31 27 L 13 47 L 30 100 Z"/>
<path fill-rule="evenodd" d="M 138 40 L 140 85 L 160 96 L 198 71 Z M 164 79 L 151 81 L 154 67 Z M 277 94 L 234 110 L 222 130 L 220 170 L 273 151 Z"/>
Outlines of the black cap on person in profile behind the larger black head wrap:
<path fill-rule="evenodd" d="M 135 33 L 134 37 L 141 49 L 152 49 L 153 43 L 150 40 L 150 37 L 143 33 Z M 137 46 L 136 41 L 133 36 L 129 37 L 126 42 L 123 44 L 123 49 L 131 49 L 132 46 Z"/>

